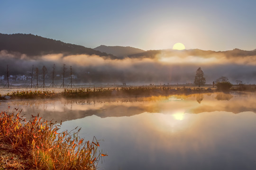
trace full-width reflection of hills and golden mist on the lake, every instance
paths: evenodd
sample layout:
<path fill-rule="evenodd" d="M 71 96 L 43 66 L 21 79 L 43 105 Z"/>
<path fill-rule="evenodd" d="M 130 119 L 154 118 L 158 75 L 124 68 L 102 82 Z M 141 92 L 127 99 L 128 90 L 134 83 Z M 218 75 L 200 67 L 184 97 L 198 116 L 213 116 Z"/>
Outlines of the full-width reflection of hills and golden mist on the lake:
<path fill-rule="evenodd" d="M 231 98 L 230 98 L 231 96 Z M 202 99 L 198 103 L 198 99 Z M 221 99 L 219 98 L 221 97 Z M 99 100 L 38 100 L 38 101 L 10 101 L 1 103 L 1 108 L 23 109 L 22 113 L 27 118 L 37 115 L 43 119 L 60 122 L 72 119 L 81 119 L 96 115 L 101 118 L 134 116 L 143 112 L 174 114 L 183 110 L 186 113 L 202 113 L 213 111 L 226 111 L 240 113 L 251 111 L 256 113 L 255 93 L 225 94 L 206 93 L 192 95 L 173 95 L 169 100 L 166 97 L 147 98 L 116 98 Z M 183 100 L 178 100 L 183 99 Z M 220 99 L 220 100 L 219 100 Z"/>

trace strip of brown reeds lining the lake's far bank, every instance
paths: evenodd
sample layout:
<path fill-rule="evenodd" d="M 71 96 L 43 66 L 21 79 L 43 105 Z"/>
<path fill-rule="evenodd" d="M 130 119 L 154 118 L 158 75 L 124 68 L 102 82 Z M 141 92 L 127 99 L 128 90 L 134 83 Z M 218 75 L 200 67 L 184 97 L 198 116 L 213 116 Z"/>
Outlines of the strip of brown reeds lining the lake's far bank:
<path fill-rule="evenodd" d="M 192 94 L 212 92 L 211 89 L 186 87 L 116 87 L 116 88 L 75 88 L 64 89 L 62 92 L 27 90 L 7 93 L 11 99 L 34 98 L 93 98 L 93 97 L 122 97 L 122 96 L 159 96 L 171 94 Z"/>

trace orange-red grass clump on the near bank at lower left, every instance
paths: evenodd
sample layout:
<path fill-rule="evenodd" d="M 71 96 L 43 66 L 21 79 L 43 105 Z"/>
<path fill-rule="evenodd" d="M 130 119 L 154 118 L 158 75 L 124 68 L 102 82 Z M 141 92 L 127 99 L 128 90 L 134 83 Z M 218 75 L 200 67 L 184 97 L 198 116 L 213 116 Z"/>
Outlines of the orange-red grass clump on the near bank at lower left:
<path fill-rule="evenodd" d="M 60 125 L 32 116 L 28 121 L 18 110 L 0 113 L 0 170 L 96 170 L 106 154 L 94 138 L 84 141 L 76 132 L 58 133 Z"/>

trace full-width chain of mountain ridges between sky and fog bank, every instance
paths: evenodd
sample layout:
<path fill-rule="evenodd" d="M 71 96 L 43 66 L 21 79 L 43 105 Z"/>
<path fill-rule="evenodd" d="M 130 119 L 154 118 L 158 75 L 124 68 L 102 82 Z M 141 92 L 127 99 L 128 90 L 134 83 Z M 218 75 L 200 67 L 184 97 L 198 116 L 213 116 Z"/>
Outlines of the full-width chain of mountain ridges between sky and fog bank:
<path fill-rule="evenodd" d="M 203 51 L 199 49 L 183 51 L 172 49 L 144 51 L 134 47 L 105 45 L 91 49 L 81 45 L 65 43 L 33 34 L 0 34 L 0 51 L 1 50 L 19 52 L 21 54 L 26 54 L 27 56 L 63 53 L 64 55 L 98 55 L 110 59 L 155 58 L 155 56 L 159 54 L 165 54 L 168 56 L 191 55 L 202 57 L 209 56 L 210 54 L 222 54 L 226 57 L 256 56 L 256 50 L 244 51 L 239 49 L 233 49 L 230 51 Z"/>

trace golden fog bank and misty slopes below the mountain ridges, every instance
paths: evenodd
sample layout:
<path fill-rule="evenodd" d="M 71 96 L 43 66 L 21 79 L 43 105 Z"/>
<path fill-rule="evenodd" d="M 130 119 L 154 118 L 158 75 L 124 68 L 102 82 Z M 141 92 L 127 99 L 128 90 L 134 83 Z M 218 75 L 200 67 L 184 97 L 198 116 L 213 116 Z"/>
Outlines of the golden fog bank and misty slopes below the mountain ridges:
<path fill-rule="evenodd" d="M 83 83 L 162 83 L 162 84 L 185 84 L 193 83 L 195 70 L 201 67 L 206 77 L 206 84 L 212 83 L 220 76 L 229 77 L 229 81 L 236 84 L 236 80 L 243 83 L 255 83 L 256 67 L 254 64 L 238 64 L 215 59 L 201 62 L 197 56 L 168 57 L 165 54 L 157 55 L 154 59 L 126 58 L 109 59 L 97 55 L 64 55 L 48 54 L 28 57 L 25 54 L 0 51 L 0 76 L 23 75 L 31 72 L 32 66 L 38 68 L 42 74 L 43 66 L 47 68 L 47 74 L 51 75 L 55 64 L 55 74 L 62 75 L 63 64 L 69 68 L 72 66 L 73 74 L 77 81 Z M 194 62 L 196 60 L 197 62 Z M 203 60 L 204 61 L 204 60 Z M 66 70 L 66 74 L 68 70 Z"/>

